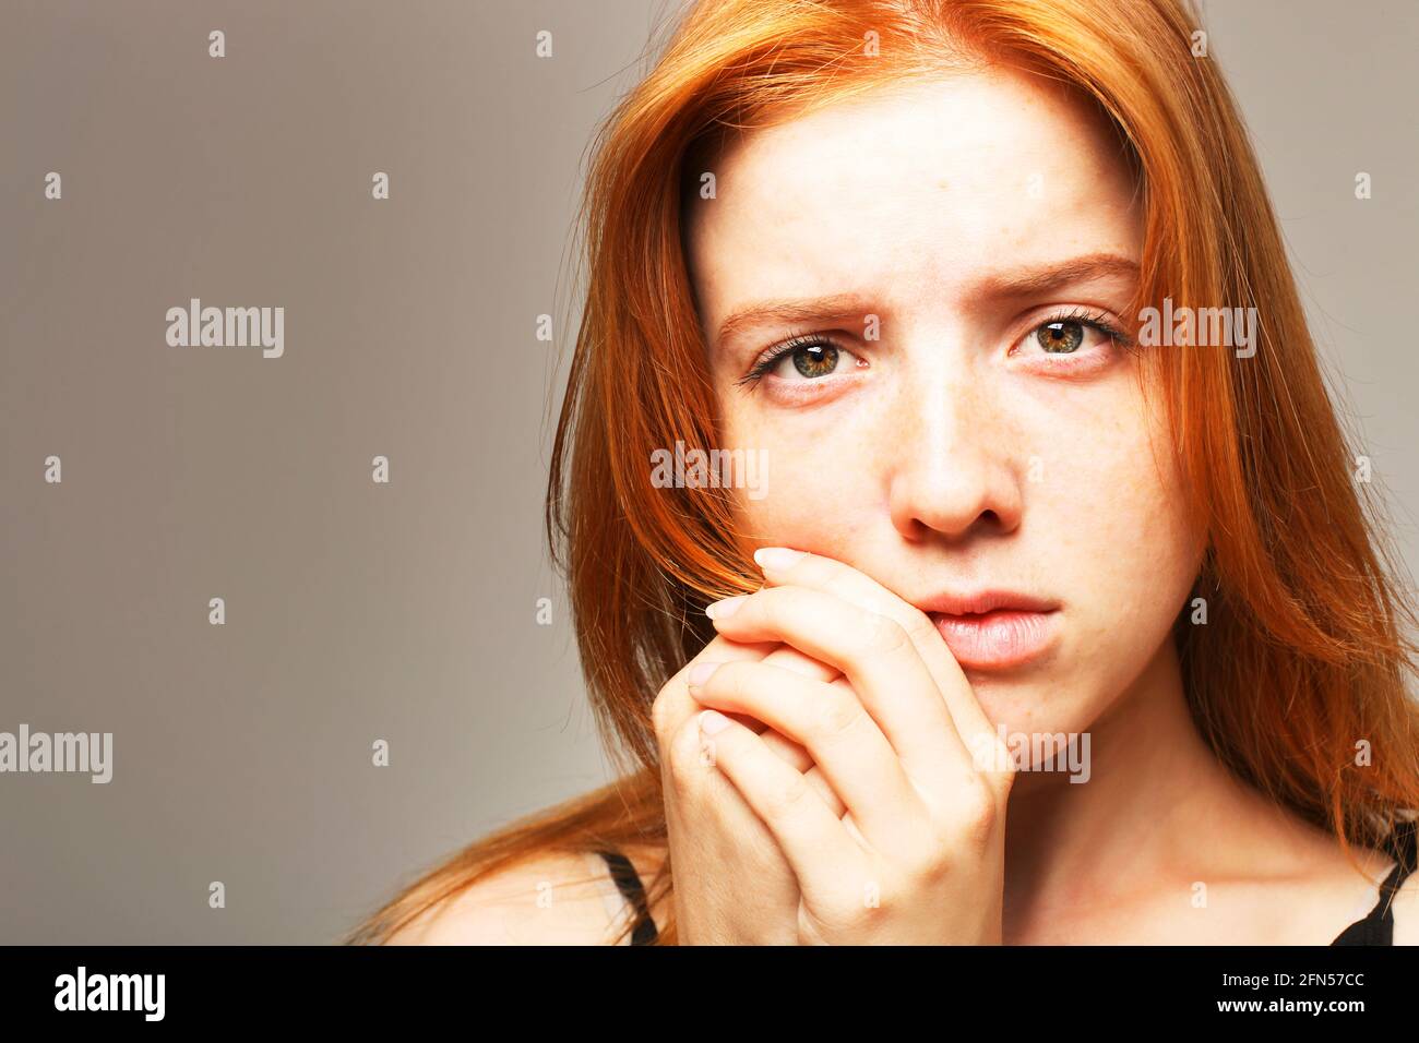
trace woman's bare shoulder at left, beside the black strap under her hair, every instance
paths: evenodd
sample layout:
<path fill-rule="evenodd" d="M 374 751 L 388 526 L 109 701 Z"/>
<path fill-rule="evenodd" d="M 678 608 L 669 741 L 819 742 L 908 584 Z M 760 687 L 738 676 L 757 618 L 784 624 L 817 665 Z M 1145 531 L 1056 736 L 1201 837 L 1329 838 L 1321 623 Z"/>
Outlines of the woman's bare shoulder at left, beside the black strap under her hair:
<path fill-rule="evenodd" d="M 599 859 L 548 851 L 495 870 L 396 931 L 389 945 L 609 945 Z"/>

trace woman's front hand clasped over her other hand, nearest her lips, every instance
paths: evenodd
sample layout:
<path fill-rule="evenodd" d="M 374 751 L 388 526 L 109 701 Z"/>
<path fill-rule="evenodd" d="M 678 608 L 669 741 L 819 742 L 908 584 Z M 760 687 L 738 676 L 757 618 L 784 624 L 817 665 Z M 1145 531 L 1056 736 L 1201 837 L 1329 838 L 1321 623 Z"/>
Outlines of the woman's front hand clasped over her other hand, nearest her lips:
<path fill-rule="evenodd" d="M 698 704 L 802 746 L 834 795 L 751 728 L 701 718 L 718 772 L 797 881 L 797 941 L 999 944 L 1015 766 L 951 650 L 922 612 L 847 565 L 782 549 L 755 558 L 769 586 L 711 606 L 719 636 L 788 644 L 847 683 L 714 643 L 680 677 Z"/>

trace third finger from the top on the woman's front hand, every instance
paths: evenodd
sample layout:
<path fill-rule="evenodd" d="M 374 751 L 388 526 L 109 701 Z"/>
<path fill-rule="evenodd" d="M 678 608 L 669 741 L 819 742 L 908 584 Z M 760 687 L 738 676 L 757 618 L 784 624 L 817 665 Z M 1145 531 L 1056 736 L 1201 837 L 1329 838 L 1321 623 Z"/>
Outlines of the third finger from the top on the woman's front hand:
<path fill-rule="evenodd" d="M 690 694 L 721 712 L 751 714 L 803 744 L 877 850 L 905 850 L 920 832 L 925 805 L 856 692 L 741 660 L 691 671 Z"/>

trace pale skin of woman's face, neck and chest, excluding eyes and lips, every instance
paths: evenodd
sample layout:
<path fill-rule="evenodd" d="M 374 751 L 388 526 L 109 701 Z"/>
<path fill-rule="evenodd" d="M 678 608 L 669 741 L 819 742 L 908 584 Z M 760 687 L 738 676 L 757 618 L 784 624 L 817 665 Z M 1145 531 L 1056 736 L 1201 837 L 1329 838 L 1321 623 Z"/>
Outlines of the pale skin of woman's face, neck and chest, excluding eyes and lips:
<path fill-rule="evenodd" d="M 986 289 L 1078 257 L 1138 261 L 1144 214 L 1097 114 L 1047 81 L 964 74 L 761 129 L 714 169 L 687 260 L 721 446 L 768 451 L 766 495 L 739 501 L 751 538 L 836 558 L 918 606 L 985 587 L 1060 603 L 1051 654 L 966 671 L 1009 734 L 1091 745 L 1087 785 L 1015 779 L 1005 942 L 1328 944 L 1374 884 L 1235 779 L 1191 719 L 1171 629 L 1203 538 L 1139 360 L 1088 331 L 1061 376 L 1034 342 L 1080 308 L 1132 332 L 1130 275 Z M 870 302 L 878 339 L 857 315 L 717 342 L 749 305 L 840 294 Z M 736 383 L 806 333 L 844 349 L 824 383 L 789 356 Z M 1366 861 L 1374 880 L 1388 866 Z"/>

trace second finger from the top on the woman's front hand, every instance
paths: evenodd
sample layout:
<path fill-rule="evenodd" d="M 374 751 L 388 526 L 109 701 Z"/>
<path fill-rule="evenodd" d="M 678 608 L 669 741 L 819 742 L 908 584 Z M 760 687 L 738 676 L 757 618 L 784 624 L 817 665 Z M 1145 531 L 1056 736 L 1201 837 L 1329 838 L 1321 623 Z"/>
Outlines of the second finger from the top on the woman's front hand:
<path fill-rule="evenodd" d="M 766 586 L 717 602 L 710 613 L 732 640 L 785 641 L 841 670 L 907 775 L 924 788 L 949 796 L 971 771 L 961 735 L 942 722 L 941 690 L 895 620 L 803 586 Z"/>

